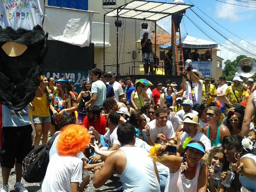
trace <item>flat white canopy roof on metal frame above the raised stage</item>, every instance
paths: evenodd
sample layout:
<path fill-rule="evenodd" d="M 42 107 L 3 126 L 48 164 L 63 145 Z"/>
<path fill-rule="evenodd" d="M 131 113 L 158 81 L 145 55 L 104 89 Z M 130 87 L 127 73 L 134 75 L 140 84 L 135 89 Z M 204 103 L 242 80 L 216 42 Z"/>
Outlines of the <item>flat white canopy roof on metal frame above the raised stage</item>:
<path fill-rule="evenodd" d="M 190 7 L 193 7 L 193 5 L 134 0 L 105 15 L 108 17 L 158 21 L 159 19 L 163 19 L 164 17 L 181 12 Z"/>

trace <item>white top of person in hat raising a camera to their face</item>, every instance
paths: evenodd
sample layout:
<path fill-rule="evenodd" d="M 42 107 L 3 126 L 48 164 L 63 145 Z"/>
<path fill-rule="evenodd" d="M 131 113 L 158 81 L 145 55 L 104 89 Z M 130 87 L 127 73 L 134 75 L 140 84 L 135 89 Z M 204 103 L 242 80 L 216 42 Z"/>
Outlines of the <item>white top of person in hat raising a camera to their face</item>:
<path fill-rule="evenodd" d="M 194 88 L 194 104 L 201 104 L 202 101 L 202 92 L 203 92 L 203 80 L 199 80 L 201 82 L 201 85 L 199 86 L 197 83 L 192 83 L 192 88 Z M 191 95 L 191 85 L 188 81 L 186 81 L 186 88 L 187 88 L 187 100 L 192 100 L 192 95 Z"/>

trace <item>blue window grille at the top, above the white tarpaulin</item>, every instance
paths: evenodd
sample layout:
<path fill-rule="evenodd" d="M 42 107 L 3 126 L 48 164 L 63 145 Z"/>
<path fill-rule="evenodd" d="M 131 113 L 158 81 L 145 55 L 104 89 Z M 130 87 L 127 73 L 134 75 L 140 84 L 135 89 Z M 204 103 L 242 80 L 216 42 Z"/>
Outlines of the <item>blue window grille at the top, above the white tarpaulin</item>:
<path fill-rule="evenodd" d="M 88 10 L 88 0 L 48 0 L 49 6 Z"/>

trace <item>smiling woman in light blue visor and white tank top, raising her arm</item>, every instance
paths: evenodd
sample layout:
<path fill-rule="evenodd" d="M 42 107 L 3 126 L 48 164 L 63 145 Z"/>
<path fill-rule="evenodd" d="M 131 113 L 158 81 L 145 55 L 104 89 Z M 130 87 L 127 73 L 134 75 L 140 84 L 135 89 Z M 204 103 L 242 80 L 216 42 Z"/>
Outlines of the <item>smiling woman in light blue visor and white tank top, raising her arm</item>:
<path fill-rule="evenodd" d="M 192 140 L 185 147 L 182 156 L 169 155 L 171 144 L 155 145 L 150 151 L 154 161 L 170 169 L 164 192 L 206 192 L 207 168 L 199 162 L 205 154 L 204 144 Z"/>

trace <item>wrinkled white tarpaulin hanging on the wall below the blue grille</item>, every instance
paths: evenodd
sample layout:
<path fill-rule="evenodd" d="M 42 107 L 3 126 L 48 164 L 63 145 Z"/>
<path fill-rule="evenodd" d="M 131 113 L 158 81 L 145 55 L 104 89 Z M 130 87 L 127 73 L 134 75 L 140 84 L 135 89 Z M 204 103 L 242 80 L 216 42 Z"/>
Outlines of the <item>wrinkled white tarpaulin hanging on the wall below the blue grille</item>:
<path fill-rule="evenodd" d="M 44 30 L 48 39 L 59 40 L 80 47 L 91 42 L 93 12 L 59 7 L 45 7 Z"/>

